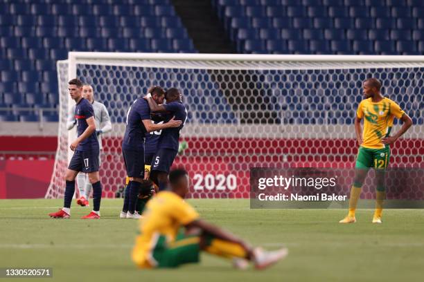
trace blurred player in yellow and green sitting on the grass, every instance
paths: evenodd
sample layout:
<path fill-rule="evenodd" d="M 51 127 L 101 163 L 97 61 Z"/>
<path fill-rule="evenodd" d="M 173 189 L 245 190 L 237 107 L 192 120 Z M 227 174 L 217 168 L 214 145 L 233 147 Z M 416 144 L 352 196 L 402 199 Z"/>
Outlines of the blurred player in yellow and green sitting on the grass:
<path fill-rule="evenodd" d="M 189 179 L 184 169 L 169 174 L 170 191 L 159 191 L 146 205 L 140 220 L 141 234 L 136 238 L 132 260 L 138 267 L 177 267 L 198 263 L 200 251 L 233 259 L 234 266 L 248 262 L 263 269 L 288 254 L 286 248 L 265 252 L 204 220 L 183 199 Z"/>

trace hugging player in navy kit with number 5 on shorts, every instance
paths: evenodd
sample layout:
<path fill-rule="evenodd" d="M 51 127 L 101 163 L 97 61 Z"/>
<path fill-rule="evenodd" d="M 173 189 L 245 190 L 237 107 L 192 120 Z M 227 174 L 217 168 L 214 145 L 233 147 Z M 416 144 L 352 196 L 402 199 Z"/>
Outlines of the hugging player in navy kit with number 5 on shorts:
<path fill-rule="evenodd" d="M 168 187 L 168 173 L 171 165 L 174 162 L 178 152 L 179 131 L 184 126 L 187 118 L 187 109 L 182 103 L 182 95 L 177 88 L 169 88 L 165 93 L 166 104 L 158 105 L 150 97 L 145 97 L 148 100 L 150 110 L 152 112 L 163 113 L 165 122 L 175 118 L 182 120 L 182 124 L 176 128 L 164 129 L 161 133 L 157 144 L 157 153 L 152 160 L 152 171 L 150 179 L 157 186 L 159 191 L 164 191 Z"/>

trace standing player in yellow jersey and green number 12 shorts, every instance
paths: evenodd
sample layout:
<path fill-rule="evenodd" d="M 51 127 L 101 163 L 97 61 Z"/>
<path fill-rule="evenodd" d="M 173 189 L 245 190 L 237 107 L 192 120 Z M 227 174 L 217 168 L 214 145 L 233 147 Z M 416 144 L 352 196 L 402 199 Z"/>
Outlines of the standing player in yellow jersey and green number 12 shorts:
<path fill-rule="evenodd" d="M 348 215 L 339 223 L 355 223 L 355 209 L 361 194 L 366 173 L 373 167 L 376 169 L 376 211 L 373 223 L 382 223 L 382 203 L 385 200 L 385 169 L 389 164 L 390 148 L 412 125 L 409 116 L 400 106 L 380 93 L 381 84 L 376 78 L 364 81 L 365 99 L 357 106 L 355 132 L 360 145 L 356 157 L 355 178 L 349 199 Z M 364 118 L 364 131 L 361 134 L 361 120 Z M 403 125 L 393 136 L 389 136 L 394 118 L 402 120 Z"/>

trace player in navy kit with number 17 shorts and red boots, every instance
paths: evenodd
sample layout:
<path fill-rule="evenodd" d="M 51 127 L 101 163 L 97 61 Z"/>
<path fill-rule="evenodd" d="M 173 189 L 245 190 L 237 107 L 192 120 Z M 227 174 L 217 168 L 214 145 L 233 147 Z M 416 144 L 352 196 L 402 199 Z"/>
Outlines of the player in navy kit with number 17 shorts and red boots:
<path fill-rule="evenodd" d="M 78 138 L 69 146 L 74 151 L 69 162 L 64 193 L 64 207 L 59 212 L 48 214 L 53 218 L 69 218 L 71 216 L 71 202 L 75 192 L 75 178 L 82 171 L 88 173 L 89 182 L 93 185 L 94 209 L 82 218 L 100 218 L 100 200 L 102 185 L 98 175 L 99 144 L 96 136 L 94 109 L 91 103 L 82 97 L 82 82 L 80 79 L 71 79 L 68 82 L 71 98 L 76 102 L 75 118 L 77 120 Z"/>

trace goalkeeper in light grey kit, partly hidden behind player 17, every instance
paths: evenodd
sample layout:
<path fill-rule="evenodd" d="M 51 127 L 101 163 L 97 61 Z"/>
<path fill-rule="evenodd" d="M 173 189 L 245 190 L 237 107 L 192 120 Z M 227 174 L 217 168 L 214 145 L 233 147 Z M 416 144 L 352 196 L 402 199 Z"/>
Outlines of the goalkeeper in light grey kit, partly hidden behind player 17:
<path fill-rule="evenodd" d="M 110 122 L 109 113 L 107 113 L 106 106 L 98 101 L 94 101 L 94 92 L 93 87 L 89 84 L 84 84 L 82 88 L 82 96 L 87 99 L 94 108 L 94 119 L 96 122 L 96 135 L 98 139 L 98 144 L 100 146 L 100 151 L 103 149 L 102 147 L 102 138 L 101 135 L 103 133 L 107 133 L 112 130 L 112 123 Z M 73 109 L 69 112 L 68 121 L 67 121 L 67 129 L 71 130 L 76 125 L 76 120 L 73 117 L 73 112 L 75 111 L 75 105 L 73 105 Z M 100 155 L 99 160 L 100 164 Z M 101 165 L 101 164 L 100 164 Z M 91 193 L 91 183 L 88 180 L 88 176 L 86 173 L 78 173 L 77 176 L 77 184 L 78 189 L 80 191 L 80 198 L 78 198 L 77 203 L 82 207 L 89 205 L 89 196 Z"/>

